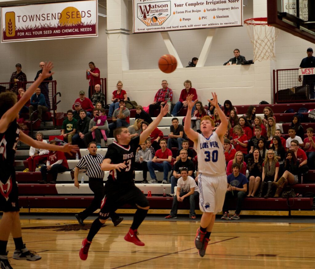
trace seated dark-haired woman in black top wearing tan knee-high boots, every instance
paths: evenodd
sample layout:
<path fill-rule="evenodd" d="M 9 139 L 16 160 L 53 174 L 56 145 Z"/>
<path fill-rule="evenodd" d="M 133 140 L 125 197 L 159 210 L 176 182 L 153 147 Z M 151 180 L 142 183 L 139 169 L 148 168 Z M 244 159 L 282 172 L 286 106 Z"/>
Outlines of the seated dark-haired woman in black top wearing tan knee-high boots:
<path fill-rule="evenodd" d="M 282 177 L 279 178 L 278 182 L 272 182 L 272 184 L 277 187 L 277 191 L 273 197 L 279 197 L 285 185 L 294 185 L 298 183 L 297 171 L 299 169 L 299 164 L 300 163 L 296 159 L 294 152 L 292 150 L 287 151 L 285 154 L 284 173 Z"/>

